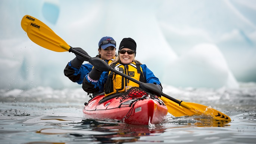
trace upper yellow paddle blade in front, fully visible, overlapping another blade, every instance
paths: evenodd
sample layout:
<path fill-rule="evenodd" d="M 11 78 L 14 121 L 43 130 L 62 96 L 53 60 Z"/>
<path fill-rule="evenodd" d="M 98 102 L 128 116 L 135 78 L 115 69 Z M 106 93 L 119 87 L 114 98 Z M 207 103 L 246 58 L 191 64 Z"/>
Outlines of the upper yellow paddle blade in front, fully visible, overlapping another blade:
<path fill-rule="evenodd" d="M 69 48 L 71 48 L 56 33 L 38 23 L 29 22 L 26 32 L 31 41 L 51 51 L 64 52 L 69 51 Z"/>

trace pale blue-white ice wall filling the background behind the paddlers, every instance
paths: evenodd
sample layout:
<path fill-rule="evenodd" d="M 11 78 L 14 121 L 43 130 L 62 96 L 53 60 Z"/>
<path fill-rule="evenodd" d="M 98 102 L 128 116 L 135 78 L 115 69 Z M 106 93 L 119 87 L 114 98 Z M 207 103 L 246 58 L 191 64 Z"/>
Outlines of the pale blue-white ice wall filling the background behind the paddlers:
<path fill-rule="evenodd" d="M 256 82 L 254 0 L 1 0 L 0 89 L 81 87 L 63 74 L 75 55 L 33 43 L 24 15 L 48 25 L 72 47 L 97 55 L 112 36 L 137 42 L 137 60 L 162 84 L 238 88 Z"/>

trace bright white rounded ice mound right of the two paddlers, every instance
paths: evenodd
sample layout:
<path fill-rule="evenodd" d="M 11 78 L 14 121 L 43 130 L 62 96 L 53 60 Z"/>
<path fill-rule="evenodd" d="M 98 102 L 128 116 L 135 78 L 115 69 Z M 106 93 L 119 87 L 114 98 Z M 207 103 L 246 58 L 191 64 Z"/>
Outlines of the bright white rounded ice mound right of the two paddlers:
<path fill-rule="evenodd" d="M 163 83 L 176 87 L 238 88 L 224 56 L 213 44 L 199 44 L 166 65 Z"/>

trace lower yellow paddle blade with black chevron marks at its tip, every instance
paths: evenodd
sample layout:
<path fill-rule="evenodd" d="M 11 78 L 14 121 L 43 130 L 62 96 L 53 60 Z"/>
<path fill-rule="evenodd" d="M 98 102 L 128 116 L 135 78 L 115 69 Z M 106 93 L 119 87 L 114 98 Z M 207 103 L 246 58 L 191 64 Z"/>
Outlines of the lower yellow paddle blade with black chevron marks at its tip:
<path fill-rule="evenodd" d="M 186 105 L 190 106 L 191 109 L 185 108 Z M 213 119 L 217 119 L 219 121 L 231 121 L 230 117 L 225 115 L 222 112 L 217 111 L 216 109 L 210 108 L 205 105 L 200 105 L 197 103 L 191 102 L 181 102 L 181 106 L 184 107 L 184 111 L 187 115 L 209 115 L 212 116 Z"/>

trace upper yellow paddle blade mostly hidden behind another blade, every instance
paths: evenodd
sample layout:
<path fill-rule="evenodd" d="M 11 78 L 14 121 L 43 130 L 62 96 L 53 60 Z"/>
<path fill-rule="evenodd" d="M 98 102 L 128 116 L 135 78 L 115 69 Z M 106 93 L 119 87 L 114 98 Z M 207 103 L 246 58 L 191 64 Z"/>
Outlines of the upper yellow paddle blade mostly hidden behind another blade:
<path fill-rule="evenodd" d="M 45 28 L 49 29 L 50 31 L 53 32 L 53 30 L 51 30 L 46 24 L 44 24 L 43 22 L 41 22 L 40 20 L 36 19 L 35 17 L 29 16 L 29 15 L 25 15 L 24 17 L 22 17 L 21 19 L 21 28 L 26 32 L 26 27 L 28 25 L 29 22 L 34 22 L 34 23 L 38 23 L 42 26 L 44 26 Z"/>

